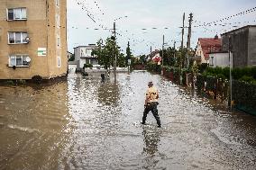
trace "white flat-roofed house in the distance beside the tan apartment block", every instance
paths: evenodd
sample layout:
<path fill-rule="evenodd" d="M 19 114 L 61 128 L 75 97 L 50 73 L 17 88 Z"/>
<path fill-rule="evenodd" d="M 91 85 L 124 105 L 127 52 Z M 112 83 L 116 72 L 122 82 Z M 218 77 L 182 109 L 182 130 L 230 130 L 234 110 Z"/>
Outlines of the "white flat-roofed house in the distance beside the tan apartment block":
<path fill-rule="evenodd" d="M 98 66 L 96 56 L 92 55 L 96 44 L 88 44 L 87 46 L 78 46 L 74 48 L 75 61 L 78 61 L 78 69 L 83 68 L 85 64 L 91 64 L 93 67 Z"/>

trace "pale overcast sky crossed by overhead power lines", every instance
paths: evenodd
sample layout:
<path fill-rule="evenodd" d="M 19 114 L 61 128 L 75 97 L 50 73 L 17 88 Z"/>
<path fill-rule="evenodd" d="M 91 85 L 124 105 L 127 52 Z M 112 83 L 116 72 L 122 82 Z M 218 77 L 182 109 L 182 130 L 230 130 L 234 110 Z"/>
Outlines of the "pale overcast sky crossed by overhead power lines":
<path fill-rule="evenodd" d="M 134 56 L 149 54 L 151 48 L 161 49 L 163 35 L 165 48 L 173 47 L 174 41 L 179 47 L 183 13 L 185 27 L 189 13 L 193 13 L 193 49 L 198 38 L 220 37 L 226 31 L 256 24 L 255 0 L 68 0 L 67 5 L 70 52 L 111 37 L 114 22 L 118 46 L 125 53 L 129 41 Z"/>

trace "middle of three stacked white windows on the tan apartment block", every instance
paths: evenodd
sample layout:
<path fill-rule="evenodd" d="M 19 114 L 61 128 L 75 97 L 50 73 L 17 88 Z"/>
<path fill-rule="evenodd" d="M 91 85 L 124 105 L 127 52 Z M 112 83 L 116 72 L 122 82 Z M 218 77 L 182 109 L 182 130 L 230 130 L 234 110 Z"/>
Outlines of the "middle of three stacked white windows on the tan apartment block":
<path fill-rule="evenodd" d="M 8 32 L 8 43 L 9 44 L 24 44 L 28 43 L 26 40 L 28 38 L 27 32 L 21 32 L 21 31 L 11 31 Z"/>

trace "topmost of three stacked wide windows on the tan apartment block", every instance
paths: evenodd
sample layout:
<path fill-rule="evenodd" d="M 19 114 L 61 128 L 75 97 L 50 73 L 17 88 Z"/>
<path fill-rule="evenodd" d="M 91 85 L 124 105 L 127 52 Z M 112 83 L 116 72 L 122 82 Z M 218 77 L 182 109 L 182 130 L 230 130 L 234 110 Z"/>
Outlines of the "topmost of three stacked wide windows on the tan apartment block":
<path fill-rule="evenodd" d="M 14 8 L 7 9 L 8 21 L 14 20 L 26 20 L 27 19 L 27 8 Z"/>

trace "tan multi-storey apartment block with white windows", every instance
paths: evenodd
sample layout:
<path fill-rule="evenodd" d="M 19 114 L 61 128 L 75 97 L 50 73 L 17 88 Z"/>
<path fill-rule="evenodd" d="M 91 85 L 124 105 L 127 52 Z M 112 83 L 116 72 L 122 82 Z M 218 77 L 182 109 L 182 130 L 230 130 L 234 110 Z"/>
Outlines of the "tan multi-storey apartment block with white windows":
<path fill-rule="evenodd" d="M 1 0 L 0 79 L 50 79 L 67 69 L 67 0 Z"/>

